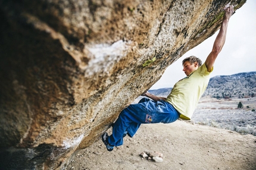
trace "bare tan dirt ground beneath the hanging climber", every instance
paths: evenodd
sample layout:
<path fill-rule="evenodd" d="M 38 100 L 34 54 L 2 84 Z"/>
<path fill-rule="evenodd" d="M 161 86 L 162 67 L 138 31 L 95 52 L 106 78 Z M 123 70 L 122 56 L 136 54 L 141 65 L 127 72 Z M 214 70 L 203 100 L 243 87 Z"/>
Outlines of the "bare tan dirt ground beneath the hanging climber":
<path fill-rule="evenodd" d="M 108 130 L 111 134 L 111 130 Z M 141 158 L 163 153 L 163 162 Z M 99 138 L 78 150 L 67 169 L 256 169 L 256 136 L 178 120 L 147 124 L 133 138 L 108 152 Z"/>

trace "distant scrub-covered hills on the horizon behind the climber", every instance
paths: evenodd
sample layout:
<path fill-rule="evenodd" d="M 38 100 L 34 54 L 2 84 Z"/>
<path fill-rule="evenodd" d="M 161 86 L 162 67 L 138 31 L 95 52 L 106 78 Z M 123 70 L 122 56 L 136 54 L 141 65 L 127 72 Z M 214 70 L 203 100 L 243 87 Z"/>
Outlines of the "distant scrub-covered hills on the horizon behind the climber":
<path fill-rule="evenodd" d="M 167 97 L 171 89 L 149 90 L 149 93 Z M 254 97 L 256 96 L 256 71 L 233 75 L 218 75 L 210 78 L 207 90 L 205 90 L 203 96 L 211 96 L 217 99 Z"/>

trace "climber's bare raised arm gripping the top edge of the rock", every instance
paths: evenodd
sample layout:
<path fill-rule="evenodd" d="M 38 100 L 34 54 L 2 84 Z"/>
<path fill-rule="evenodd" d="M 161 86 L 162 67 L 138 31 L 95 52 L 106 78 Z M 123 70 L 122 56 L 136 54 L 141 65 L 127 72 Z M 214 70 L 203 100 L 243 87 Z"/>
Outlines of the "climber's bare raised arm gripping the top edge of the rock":
<path fill-rule="evenodd" d="M 226 12 L 223 17 L 223 21 L 220 27 L 220 32 L 218 33 L 216 40 L 213 44 L 213 49 L 211 53 L 208 55 L 205 65 L 207 67 L 207 71 L 210 72 L 213 68 L 214 62 L 218 56 L 218 53 L 220 53 L 221 49 L 223 48 L 223 45 L 226 40 L 226 33 L 227 33 L 227 24 L 229 23 L 229 18 L 233 14 L 233 6 L 230 6 L 226 9 Z"/>

